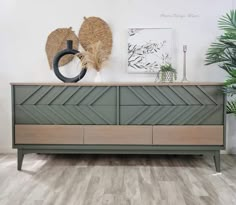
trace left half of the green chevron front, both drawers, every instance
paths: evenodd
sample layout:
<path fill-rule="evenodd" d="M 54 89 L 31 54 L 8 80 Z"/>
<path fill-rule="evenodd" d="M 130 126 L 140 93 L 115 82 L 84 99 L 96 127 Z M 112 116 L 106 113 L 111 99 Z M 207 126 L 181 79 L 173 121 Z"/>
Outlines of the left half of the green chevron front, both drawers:
<path fill-rule="evenodd" d="M 18 124 L 116 124 L 116 87 L 16 86 Z"/>

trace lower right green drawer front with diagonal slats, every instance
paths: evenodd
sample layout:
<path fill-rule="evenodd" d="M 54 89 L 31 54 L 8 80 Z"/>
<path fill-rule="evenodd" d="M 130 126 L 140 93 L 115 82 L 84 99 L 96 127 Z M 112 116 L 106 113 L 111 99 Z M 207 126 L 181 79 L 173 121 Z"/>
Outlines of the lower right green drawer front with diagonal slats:
<path fill-rule="evenodd" d="M 223 105 L 120 106 L 121 125 L 223 125 Z"/>

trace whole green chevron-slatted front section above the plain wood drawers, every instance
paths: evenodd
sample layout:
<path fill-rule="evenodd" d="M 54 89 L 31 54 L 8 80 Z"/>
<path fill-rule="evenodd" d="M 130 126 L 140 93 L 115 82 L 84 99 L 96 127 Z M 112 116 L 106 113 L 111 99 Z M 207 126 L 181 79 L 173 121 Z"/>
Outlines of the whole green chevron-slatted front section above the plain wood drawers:
<path fill-rule="evenodd" d="M 224 124 L 221 86 L 14 87 L 16 124 Z"/>

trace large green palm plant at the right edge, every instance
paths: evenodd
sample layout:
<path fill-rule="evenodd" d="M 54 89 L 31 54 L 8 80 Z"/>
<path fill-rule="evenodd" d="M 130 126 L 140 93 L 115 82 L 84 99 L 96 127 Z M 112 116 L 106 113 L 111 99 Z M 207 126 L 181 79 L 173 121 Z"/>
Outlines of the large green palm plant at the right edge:
<path fill-rule="evenodd" d="M 229 77 L 225 82 L 225 92 L 230 96 L 227 113 L 236 114 L 236 10 L 232 10 L 218 21 L 223 34 L 210 45 L 206 54 L 206 65 L 217 63 Z"/>

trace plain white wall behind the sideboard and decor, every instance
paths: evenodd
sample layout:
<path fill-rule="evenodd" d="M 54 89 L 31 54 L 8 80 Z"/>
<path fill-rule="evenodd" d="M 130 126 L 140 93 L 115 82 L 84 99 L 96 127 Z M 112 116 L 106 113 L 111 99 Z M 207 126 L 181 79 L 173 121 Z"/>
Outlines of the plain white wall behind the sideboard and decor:
<path fill-rule="evenodd" d="M 155 76 L 127 74 L 127 28 L 174 29 L 174 65 L 182 76 L 182 45 L 188 45 L 191 81 L 224 81 L 217 66 L 204 66 L 209 44 L 220 33 L 217 19 L 235 8 L 234 0 L 1 0 L 0 2 L 0 152 L 11 149 L 10 82 L 59 82 L 45 54 L 48 34 L 60 27 L 78 33 L 84 16 L 99 16 L 110 25 L 113 53 L 102 72 L 104 81 L 154 81 Z M 72 64 L 73 65 L 73 64 Z M 83 81 L 93 81 L 92 73 Z M 236 120 L 228 119 L 228 150 L 236 153 Z"/>

